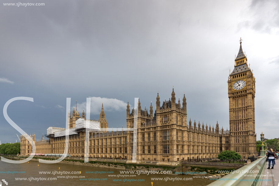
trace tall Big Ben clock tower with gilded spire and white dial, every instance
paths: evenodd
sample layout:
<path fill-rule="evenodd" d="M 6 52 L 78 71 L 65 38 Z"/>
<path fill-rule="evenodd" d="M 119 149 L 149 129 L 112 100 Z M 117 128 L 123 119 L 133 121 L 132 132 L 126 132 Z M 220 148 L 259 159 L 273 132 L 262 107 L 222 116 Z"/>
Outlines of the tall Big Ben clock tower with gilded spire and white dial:
<path fill-rule="evenodd" d="M 231 150 L 242 158 L 256 155 L 255 77 L 242 51 L 242 40 L 228 79 Z M 250 66 L 250 65 L 249 65 Z"/>

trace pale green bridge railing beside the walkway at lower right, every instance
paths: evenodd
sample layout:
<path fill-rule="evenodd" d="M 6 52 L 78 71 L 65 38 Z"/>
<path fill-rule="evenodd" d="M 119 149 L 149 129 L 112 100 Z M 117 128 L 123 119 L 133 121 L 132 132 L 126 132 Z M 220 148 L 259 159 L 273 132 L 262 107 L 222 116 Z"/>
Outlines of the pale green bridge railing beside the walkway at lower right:
<path fill-rule="evenodd" d="M 266 156 L 259 158 L 234 172 L 219 178 L 208 186 L 258 186 L 261 185 L 264 168 L 266 165 Z"/>

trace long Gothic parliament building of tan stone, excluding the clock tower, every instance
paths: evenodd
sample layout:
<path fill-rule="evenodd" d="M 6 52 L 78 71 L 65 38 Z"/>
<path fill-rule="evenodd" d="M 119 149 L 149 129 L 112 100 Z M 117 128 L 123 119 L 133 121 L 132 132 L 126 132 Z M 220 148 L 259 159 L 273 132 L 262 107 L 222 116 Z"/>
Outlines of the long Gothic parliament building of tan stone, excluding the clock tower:
<path fill-rule="evenodd" d="M 83 111 L 82 117 L 73 110 L 72 115 L 68 113 L 68 126 L 76 130 L 76 134 L 69 135 L 68 154 L 71 156 L 85 156 L 85 128 L 76 128 L 78 119 L 85 119 Z M 123 158 L 132 160 L 133 131 L 116 129 L 108 131 L 106 114 L 101 109 L 100 118 L 96 122 L 101 127 L 100 131 L 90 132 L 89 136 L 89 157 L 95 158 Z M 127 128 L 134 128 L 134 109 L 130 112 L 127 104 Z M 101 125 L 101 123 L 103 123 Z M 181 160 L 193 160 L 201 158 L 217 157 L 222 150 L 230 149 L 229 131 L 220 130 L 217 122 L 215 128 L 211 125 L 204 126 L 204 123 L 192 123 L 189 120 L 187 125 L 187 103 L 185 95 L 182 105 L 180 99 L 176 103 L 173 92 L 168 101 L 160 104 L 159 93 L 156 98 L 156 109 L 153 114 L 153 106 L 150 105 L 149 112 L 141 109 L 138 101 L 137 119 L 137 161 L 138 162 L 169 162 L 177 163 Z M 65 149 L 65 135 L 55 137 L 65 128 L 50 127 L 51 134 L 47 134 L 47 139 L 36 141 L 36 153 L 41 154 L 63 154 Z M 49 128 L 49 129 L 50 129 Z M 48 129 L 48 130 L 49 130 Z M 21 136 L 21 154 L 29 155 L 32 151 L 28 140 Z M 28 148 L 29 147 L 29 148 Z"/>

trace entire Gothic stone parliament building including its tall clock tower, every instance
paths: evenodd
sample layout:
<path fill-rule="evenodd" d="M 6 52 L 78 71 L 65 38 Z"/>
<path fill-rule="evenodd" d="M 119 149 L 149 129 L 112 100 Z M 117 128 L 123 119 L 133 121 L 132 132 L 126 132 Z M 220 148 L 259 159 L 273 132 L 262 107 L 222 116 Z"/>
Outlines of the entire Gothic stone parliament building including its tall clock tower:
<path fill-rule="evenodd" d="M 247 64 L 240 39 L 239 53 L 234 60 L 234 68 L 228 77 L 229 130 L 204 125 L 199 121 L 187 120 L 186 97 L 176 99 L 174 89 L 169 100 L 156 97 L 155 111 L 150 104 L 149 112 L 141 109 L 138 100 L 137 122 L 135 110 L 127 104 L 127 128 L 137 125 L 137 162 L 167 162 L 169 164 L 202 158 L 215 158 L 221 151 L 233 150 L 242 158 L 256 155 L 255 134 L 255 78 Z M 162 104 L 161 104 L 162 103 Z M 85 113 L 75 110 L 68 113 L 69 146 L 71 156 L 85 156 Z M 92 120 L 90 120 L 91 122 Z M 89 157 L 122 158 L 132 160 L 134 134 L 131 130 L 108 131 L 104 106 L 99 120 L 92 122 L 100 126 L 99 131 L 89 132 Z M 63 133 L 64 132 L 64 133 Z M 47 135 L 36 141 L 36 153 L 63 154 L 65 148 L 65 128 L 49 127 Z M 21 155 L 30 155 L 32 146 L 25 136 L 20 139 Z"/>

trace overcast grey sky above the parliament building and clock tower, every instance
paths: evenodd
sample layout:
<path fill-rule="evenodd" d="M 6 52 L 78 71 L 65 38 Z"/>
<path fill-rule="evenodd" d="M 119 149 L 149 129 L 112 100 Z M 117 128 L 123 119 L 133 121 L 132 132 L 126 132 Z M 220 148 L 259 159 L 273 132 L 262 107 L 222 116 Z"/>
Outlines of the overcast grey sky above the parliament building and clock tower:
<path fill-rule="evenodd" d="M 34 98 L 11 103 L 8 115 L 36 139 L 65 127 L 67 97 L 80 114 L 91 97 L 91 119 L 103 102 L 109 127 L 121 128 L 128 100 L 131 109 L 135 97 L 142 109 L 152 101 L 155 111 L 157 92 L 162 104 L 173 86 L 176 100 L 185 92 L 187 122 L 218 120 L 226 130 L 240 37 L 256 78 L 257 140 L 279 137 L 278 1 L 36 2 L 45 5 L 0 5 L 0 107 Z M 1 143 L 20 135 L 3 114 L 0 127 Z"/>

